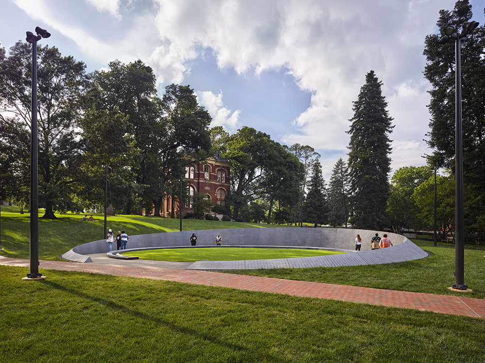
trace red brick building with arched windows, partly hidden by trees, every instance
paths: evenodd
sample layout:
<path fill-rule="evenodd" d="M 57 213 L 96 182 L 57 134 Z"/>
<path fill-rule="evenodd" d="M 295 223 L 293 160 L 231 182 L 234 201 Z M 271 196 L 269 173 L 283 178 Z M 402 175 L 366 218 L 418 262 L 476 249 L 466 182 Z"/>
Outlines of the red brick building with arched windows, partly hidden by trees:
<path fill-rule="evenodd" d="M 225 198 L 229 192 L 229 161 L 221 158 L 209 158 L 205 162 L 199 162 L 187 167 L 185 180 L 189 195 L 195 192 L 208 194 L 210 200 L 217 205 L 225 205 Z M 165 217 L 172 217 L 172 201 L 168 198 L 162 207 Z M 178 204 L 175 205 L 175 211 L 178 214 Z M 192 212 L 190 205 L 182 205 L 183 212 Z"/>

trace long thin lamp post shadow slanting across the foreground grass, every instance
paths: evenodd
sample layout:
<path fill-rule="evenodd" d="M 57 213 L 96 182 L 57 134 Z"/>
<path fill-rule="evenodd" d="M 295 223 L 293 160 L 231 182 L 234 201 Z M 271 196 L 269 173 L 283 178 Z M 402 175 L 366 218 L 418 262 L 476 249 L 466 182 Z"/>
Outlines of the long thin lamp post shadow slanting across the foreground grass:
<path fill-rule="evenodd" d="M 126 315 L 132 316 L 134 318 L 141 318 L 141 319 L 144 319 L 146 321 L 151 321 L 151 322 L 163 325 L 166 328 L 168 328 L 172 331 L 175 331 L 177 333 L 192 335 L 196 339 L 200 338 L 200 339 L 203 339 L 203 340 L 205 340 L 209 343 L 217 344 L 217 345 L 232 349 L 234 351 L 247 352 L 250 349 L 249 347 L 244 347 L 244 346 L 240 346 L 240 345 L 237 345 L 237 344 L 226 343 L 225 341 L 222 341 L 218 338 L 211 337 L 209 335 L 209 333 L 205 333 L 205 332 L 201 333 L 201 332 L 195 331 L 195 330 L 187 328 L 187 327 L 178 326 L 178 325 L 175 325 L 175 324 L 172 324 L 170 322 L 163 320 L 161 317 L 150 316 L 150 315 L 148 315 L 144 312 L 141 312 L 141 311 L 138 311 L 138 310 L 133 310 L 133 309 L 127 307 L 127 306 L 121 305 L 121 304 L 114 302 L 112 300 L 106 300 L 106 299 L 98 298 L 96 296 L 91 296 L 91 295 L 88 295 L 86 293 L 74 290 L 72 288 L 63 286 L 61 284 L 54 283 L 54 282 L 49 281 L 49 280 L 40 280 L 39 283 L 46 284 L 46 285 L 48 285 L 52 288 L 55 288 L 59 291 L 63 291 L 63 292 L 67 292 L 69 294 L 75 295 L 75 296 L 77 296 L 81 299 L 91 300 L 95 303 L 101 304 L 101 305 L 106 306 L 108 308 L 115 309 L 116 311 L 122 311 Z M 255 359 L 258 362 L 266 362 L 266 361 L 280 362 L 280 363 L 290 363 L 291 362 L 287 359 L 275 357 L 275 356 L 273 356 L 271 354 L 267 354 L 267 353 L 262 354 L 262 353 L 259 353 L 257 351 L 252 351 L 250 354 L 251 354 L 251 356 L 253 356 L 253 359 Z"/>

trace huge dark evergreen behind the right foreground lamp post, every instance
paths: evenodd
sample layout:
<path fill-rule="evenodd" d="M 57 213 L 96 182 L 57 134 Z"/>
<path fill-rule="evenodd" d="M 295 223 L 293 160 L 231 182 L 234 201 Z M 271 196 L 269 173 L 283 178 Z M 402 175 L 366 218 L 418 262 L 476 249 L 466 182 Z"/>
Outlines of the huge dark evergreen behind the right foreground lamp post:
<path fill-rule="evenodd" d="M 452 12 L 440 10 L 436 23 L 439 33 L 446 27 L 470 21 L 473 14 L 468 0 L 455 3 Z M 426 36 L 423 54 L 426 56 L 424 77 L 431 83 L 431 120 L 427 133 L 428 145 L 433 150 L 431 166 L 445 167 L 454 175 L 455 154 L 455 51 L 454 42 L 438 44 L 440 35 Z M 485 29 L 475 29 L 468 39 L 461 41 L 462 123 L 463 123 L 463 178 L 465 185 L 465 224 L 481 224 L 485 215 Z M 467 234 L 473 228 L 466 228 Z M 469 236 L 467 236 L 469 237 Z"/>

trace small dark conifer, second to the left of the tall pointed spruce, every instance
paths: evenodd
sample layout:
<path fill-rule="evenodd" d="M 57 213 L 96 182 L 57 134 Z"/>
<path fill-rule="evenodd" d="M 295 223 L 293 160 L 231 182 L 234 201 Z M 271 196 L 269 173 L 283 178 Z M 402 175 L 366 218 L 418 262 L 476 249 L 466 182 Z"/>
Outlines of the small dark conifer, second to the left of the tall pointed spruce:
<path fill-rule="evenodd" d="M 320 161 L 313 164 L 307 199 L 303 204 L 303 219 L 306 222 L 323 224 L 326 221 L 327 205 L 325 201 L 325 181 L 322 176 Z"/>

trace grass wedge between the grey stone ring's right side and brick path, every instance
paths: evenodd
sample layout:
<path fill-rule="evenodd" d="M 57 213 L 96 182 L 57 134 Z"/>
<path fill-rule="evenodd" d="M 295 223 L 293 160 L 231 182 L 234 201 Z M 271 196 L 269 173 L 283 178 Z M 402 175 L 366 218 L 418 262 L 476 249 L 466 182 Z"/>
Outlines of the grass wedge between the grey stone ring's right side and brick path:
<path fill-rule="evenodd" d="M 413 240 L 430 256 L 420 260 L 384 265 L 330 268 L 274 268 L 227 271 L 244 275 L 278 279 L 375 287 L 390 290 L 416 291 L 433 294 L 468 296 L 485 299 L 485 251 L 465 249 L 465 284 L 472 292 L 448 290 L 454 284 L 455 249 L 452 246 L 433 247 L 433 242 Z"/>

